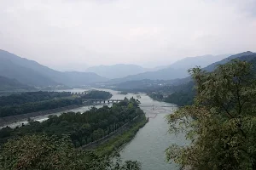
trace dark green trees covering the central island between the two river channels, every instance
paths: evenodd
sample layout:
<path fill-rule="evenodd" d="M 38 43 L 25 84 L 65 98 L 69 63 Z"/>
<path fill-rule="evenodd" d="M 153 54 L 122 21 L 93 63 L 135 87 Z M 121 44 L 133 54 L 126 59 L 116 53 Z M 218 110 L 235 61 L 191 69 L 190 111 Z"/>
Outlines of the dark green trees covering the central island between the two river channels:
<path fill-rule="evenodd" d="M 0 130 L 0 143 L 17 136 L 31 133 L 46 133 L 61 137 L 67 134 L 76 147 L 101 139 L 112 133 L 135 117 L 143 116 L 136 99 L 125 99 L 113 107 L 92 108 L 82 113 L 64 113 L 61 116 L 49 116 L 45 122 L 30 122 L 29 125 Z M 143 116 L 144 117 L 144 116 Z"/>

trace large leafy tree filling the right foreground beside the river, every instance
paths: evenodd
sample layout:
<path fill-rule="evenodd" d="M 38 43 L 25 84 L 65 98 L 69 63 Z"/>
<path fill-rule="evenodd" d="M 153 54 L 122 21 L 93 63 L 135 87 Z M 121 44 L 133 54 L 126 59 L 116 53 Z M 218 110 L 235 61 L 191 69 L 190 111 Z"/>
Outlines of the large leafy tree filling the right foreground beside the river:
<path fill-rule="evenodd" d="M 256 169 L 256 78 L 253 65 L 232 61 L 207 73 L 192 71 L 195 101 L 168 117 L 172 132 L 190 144 L 173 144 L 168 160 L 189 169 Z"/>

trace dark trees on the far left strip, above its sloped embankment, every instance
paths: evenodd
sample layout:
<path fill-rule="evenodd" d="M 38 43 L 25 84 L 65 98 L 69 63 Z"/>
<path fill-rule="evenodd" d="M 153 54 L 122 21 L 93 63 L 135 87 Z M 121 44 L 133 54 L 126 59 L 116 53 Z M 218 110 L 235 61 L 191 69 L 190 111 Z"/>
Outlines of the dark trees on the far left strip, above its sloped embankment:
<path fill-rule="evenodd" d="M 0 117 L 15 116 L 36 111 L 46 111 L 69 105 L 82 105 L 86 99 L 109 99 L 112 94 L 104 91 L 90 91 L 73 96 L 70 92 L 27 92 L 0 97 Z"/>

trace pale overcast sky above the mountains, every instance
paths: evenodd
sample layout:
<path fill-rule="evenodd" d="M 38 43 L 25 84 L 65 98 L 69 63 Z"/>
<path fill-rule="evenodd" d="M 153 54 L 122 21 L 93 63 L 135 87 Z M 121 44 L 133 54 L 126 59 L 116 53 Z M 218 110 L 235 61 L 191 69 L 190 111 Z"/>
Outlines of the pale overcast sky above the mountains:
<path fill-rule="evenodd" d="M 256 0 L 0 0 L 0 48 L 54 68 L 256 51 Z"/>

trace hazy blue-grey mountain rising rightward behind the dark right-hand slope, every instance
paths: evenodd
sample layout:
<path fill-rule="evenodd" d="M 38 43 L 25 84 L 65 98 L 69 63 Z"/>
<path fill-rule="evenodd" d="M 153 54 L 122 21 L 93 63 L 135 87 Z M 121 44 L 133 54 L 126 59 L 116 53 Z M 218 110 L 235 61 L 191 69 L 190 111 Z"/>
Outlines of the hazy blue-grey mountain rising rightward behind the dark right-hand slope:
<path fill-rule="evenodd" d="M 113 79 L 109 82 L 119 83 L 127 81 L 138 81 L 143 79 L 150 80 L 172 80 L 177 78 L 188 77 L 189 68 L 193 68 L 196 65 L 207 66 L 212 62 L 218 61 L 219 59 L 224 59 L 229 56 L 229 54 L 224 55 L 204 55 L 198 57 L 188 57 L 185 59 L 178 60 L 172 65 L 167 66 L 167 68 L 160 69 L 159 71 L 146 71 L 139 73 L 137 75 L 130 75 L 123 78 Z"/>

